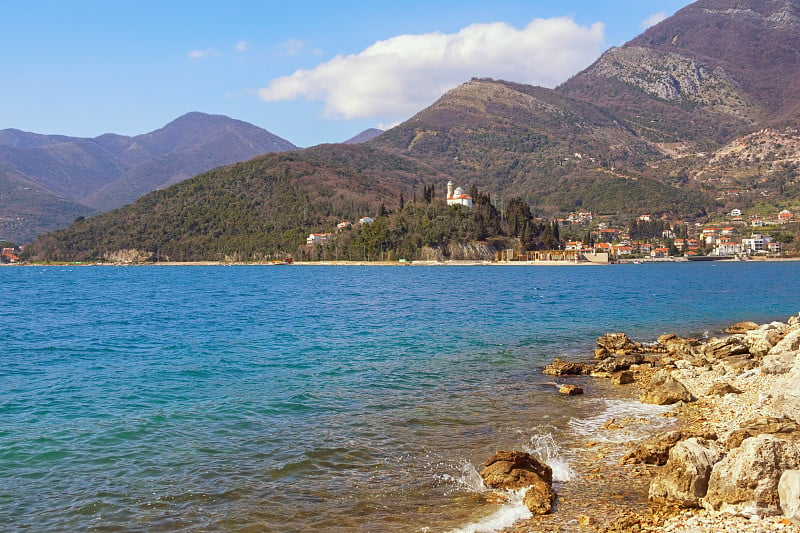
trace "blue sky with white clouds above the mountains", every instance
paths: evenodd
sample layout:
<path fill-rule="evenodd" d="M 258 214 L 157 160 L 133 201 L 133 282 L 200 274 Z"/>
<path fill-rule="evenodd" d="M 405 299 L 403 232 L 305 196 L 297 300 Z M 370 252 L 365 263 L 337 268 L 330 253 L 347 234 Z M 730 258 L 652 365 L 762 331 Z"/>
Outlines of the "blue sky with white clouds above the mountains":
<path fill-rule="evenodd" d="M 555 87 L 689 0 L 0 0 L 0 129 L 138 135 L 190 111 L 308 147 L 472 77 Z"/>

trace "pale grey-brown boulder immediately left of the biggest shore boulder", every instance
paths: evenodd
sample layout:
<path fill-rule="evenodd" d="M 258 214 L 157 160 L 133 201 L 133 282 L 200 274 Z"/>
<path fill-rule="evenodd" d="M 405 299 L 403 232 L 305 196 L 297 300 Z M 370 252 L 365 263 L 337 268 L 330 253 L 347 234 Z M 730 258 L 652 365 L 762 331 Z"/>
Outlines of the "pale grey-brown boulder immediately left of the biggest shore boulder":
<path fill-rule="evenodd" d="M 681 441 L 669 451 L 667 464 L 650 483 L 650 501 L 663 505 L 700 507 L 708 491 L 713 466 L 722 459 L 714 441 L 695 437 Z"/>

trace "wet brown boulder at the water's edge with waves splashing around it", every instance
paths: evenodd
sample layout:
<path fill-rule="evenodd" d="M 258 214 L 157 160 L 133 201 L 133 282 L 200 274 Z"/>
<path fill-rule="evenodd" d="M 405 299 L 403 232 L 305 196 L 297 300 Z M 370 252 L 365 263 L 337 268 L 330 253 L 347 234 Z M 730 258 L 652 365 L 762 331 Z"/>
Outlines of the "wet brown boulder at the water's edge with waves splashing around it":
<path fill-rule="evenodd" d="M 553 509 L 553 470 L 525 452 L 497 452 L 481 470 L 483 482 L 491 488 L 519 490 L 528 488 L 524 502 L 534 514 Z"/>

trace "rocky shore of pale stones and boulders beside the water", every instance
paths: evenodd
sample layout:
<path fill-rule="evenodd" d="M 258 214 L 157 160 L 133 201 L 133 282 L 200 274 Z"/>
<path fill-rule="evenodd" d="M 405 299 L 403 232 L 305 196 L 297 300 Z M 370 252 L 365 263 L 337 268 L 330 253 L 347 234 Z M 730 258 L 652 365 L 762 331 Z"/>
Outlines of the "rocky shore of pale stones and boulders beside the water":
<path fill-rule="evenodd" d="M 599 379 L 669 406 L 673 422 L 608 420 L 601 431 L 639 426 L 641 441 L 581 443 L 553 512 L 510 531 L 800 531 L 800 316 L 707 340 L 610 333 L 593 361 L 557 359 L 544 373 L 559 386 Z"/>

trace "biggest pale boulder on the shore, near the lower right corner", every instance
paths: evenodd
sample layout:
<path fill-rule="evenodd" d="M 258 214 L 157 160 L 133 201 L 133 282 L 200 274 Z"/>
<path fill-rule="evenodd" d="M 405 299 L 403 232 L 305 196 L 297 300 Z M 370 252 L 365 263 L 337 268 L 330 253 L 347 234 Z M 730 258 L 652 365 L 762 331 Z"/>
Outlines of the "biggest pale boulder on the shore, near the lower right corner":
<path fill-rule="evenodd" d="M 702 504 L 708 510 L 744 516 L 781 514 L 778 482 L 800 467 L 800 450 L 773 435 L 746 439 L 714 465 Z"/>

